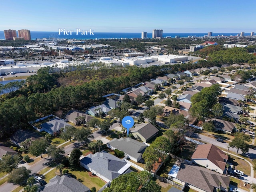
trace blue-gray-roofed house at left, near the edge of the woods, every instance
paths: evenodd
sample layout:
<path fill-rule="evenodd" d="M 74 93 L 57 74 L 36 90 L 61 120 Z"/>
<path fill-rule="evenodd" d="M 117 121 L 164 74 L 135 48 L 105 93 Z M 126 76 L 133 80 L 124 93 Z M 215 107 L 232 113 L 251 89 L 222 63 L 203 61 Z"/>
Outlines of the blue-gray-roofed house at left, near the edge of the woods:
<path fill-rule="evenodd" d="M 70 124 L 60 119 L 53 119 L 46 123 L 43 123 L 40 126 L 40 132 L 45 131 L 52 135 L 58 135 L 60 133 L 60 129 L 65 128 L 66 126 L 70 126 Z"/>

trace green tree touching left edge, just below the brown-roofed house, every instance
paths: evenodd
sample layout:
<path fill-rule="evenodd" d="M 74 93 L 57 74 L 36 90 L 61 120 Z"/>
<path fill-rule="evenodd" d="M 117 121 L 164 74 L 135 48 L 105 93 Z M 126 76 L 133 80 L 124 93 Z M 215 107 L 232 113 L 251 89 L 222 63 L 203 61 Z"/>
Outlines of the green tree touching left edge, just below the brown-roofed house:
<path fill-rule="evenodd" d="M 0 172 L 10 173 L 18 167 L 20 157 L 18 155 L 6 154 L 0 160 Z"/>

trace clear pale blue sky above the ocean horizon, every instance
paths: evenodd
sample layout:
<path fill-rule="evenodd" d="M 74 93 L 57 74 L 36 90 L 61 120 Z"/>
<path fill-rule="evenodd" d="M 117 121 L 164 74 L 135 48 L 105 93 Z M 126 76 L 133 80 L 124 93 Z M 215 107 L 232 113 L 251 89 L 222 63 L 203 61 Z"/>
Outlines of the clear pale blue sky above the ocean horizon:
<path fill-rule="evenodd" d="M 11 0 L 0 30 L 256 32 L 256 0 Z"/>

